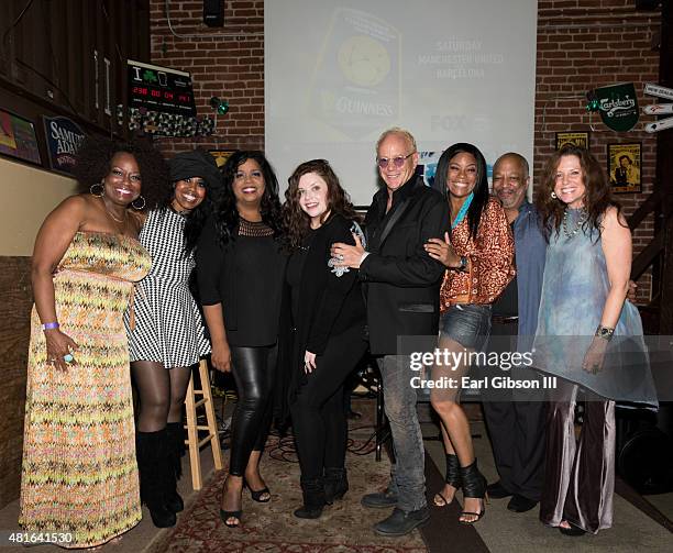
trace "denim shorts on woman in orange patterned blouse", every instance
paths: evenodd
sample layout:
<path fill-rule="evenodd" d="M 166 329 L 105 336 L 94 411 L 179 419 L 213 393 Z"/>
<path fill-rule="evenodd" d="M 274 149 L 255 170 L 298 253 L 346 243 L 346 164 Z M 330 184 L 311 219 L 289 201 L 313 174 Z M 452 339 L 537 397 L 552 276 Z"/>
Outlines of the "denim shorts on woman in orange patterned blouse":
<path fill-rule="evenodd" d="M 463 347 L 481 351 L 490 334 L 490 306 L 456 303 L 442 313 L 440 338 L 450 338 Z"/>

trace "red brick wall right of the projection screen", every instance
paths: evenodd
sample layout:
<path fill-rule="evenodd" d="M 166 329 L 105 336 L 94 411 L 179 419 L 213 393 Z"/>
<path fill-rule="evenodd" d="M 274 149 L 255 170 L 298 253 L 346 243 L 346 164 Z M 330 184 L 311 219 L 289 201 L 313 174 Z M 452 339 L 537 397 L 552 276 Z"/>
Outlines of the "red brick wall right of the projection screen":
<path fill-rule="evenodd" d="M 640 107 L 653 103 L 642 95 L 643 84 L 657 82 L 660 12 L 637 12 L 635 0 L 539 0 L 538 58 L 536 78 L 536 137 L 533 167 L 540 175 L 561 131 L 589 131 L 589 148 L 605 167 L 608 143 L 642 143 L 643 193 L 617 198 L 628 215 L 652 191 L 657 165 L 657 139 L 640 129 L 652 117 L 641 115 L 636 129 L 617 133 L 585 110 L 587 90 L 617 82 L 633 82 Z M 562 99 L 574 97 L 575 99 Z M 593 128 L 593 129 L 592 129 Z M 633 233 L 633 253 L 640 252 L 653 233 L 650 215 Z M 650 294 L 650 275 L 639 284 L 639 302 Z"/>

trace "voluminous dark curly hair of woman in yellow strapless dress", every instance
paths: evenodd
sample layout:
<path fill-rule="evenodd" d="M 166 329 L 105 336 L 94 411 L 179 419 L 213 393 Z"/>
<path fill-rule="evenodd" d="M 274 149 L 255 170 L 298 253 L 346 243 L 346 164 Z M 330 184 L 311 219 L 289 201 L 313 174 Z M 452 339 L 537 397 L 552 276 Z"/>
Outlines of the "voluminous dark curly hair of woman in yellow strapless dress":
<path fill-rule="evenodd" d="M 137 162 L 141 173 L 141 195 L 145 199 L 142 211 L 156 209 L 170 198 L 168 166 L 162 154 L 147 141 L 115 142 L 109 139 L 88 136 L 77 151 L 75 178 L 78 191 L 89 193 L 91 186 L 110 173 L 110 163 L 115 154 L 125 152 Z"/>

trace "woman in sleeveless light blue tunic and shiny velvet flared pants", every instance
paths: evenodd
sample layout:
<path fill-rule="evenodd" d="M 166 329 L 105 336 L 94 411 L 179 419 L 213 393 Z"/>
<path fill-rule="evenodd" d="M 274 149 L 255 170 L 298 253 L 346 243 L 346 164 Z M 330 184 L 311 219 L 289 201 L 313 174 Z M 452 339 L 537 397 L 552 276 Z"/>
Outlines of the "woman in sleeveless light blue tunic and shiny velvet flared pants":
<path fill-rule="evenodd" d="M 596 533 L 613 522 L 615 401 L 657 406 L 640 316 L 625 301 L 631 233 L 600 165 L 575 146 L 549 159 L 538 209 L 549 246 L 533 366 L 561 377 L 549 406 L 540 518 L 567 535 Z"/>

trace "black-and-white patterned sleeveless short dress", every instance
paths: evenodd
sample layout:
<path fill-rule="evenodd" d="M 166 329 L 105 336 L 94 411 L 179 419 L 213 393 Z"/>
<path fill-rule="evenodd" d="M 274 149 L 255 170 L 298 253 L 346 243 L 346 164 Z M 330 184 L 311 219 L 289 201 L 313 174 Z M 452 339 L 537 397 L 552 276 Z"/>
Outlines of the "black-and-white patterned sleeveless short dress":
<path fill-rule="evenodd" d="M 203 322 L 189 290 L 196 265 L 185 255 L 185 217 L 169 208 L 151 211 L 139 240 L 152 255 L 152 269 L 135 291 L 129 331 L 131 361 L 153 361 L 166 368 L 188 367 L 210 352 Z"/>

